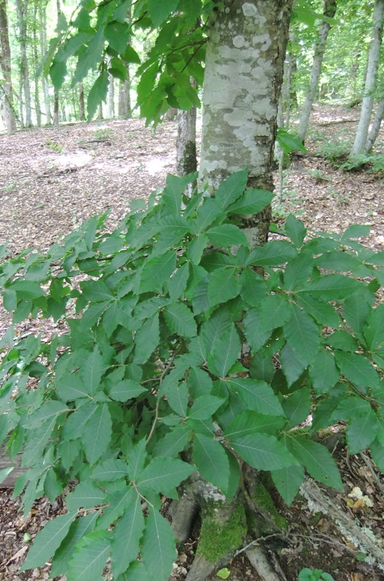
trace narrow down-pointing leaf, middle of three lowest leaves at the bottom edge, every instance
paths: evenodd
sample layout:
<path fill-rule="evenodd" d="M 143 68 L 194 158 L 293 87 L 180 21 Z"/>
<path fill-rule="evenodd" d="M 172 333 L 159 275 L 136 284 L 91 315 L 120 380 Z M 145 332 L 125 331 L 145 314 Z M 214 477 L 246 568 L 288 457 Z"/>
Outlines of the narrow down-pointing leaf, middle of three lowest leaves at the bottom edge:
<path fill-rule="evenodd" d="M 141 499 L 138 497 L 114 528 L 114 538 L 111 541 L 114 577 L 124 573 L 128 566 L 136 560 L 144 526 L 143 508 Z"/>

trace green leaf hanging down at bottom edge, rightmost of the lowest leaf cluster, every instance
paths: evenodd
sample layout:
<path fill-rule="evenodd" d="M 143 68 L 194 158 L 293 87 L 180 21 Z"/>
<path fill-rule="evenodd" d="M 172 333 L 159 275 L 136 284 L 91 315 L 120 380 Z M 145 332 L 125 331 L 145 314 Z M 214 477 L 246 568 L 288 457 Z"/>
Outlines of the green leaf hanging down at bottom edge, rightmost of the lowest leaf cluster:
<path fill-rule="evenodd" d="M 167 581 L 176 556 L 170 523 L 154 508 L 150 509 L 141 545 L 141 560 L 150 579 Z"/>

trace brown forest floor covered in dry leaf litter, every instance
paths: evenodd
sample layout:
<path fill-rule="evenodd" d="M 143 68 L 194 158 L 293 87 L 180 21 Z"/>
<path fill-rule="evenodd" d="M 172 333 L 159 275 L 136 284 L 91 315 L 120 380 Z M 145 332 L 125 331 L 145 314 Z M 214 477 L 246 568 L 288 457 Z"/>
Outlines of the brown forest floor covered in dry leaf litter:
<path fill-rule="evenodd" d="M 295 157 L 285 171 L 275 221 L 281 223 L 293 212 L 314 230 L 342 232 L 351 224 L 370 224 L 371 234 L 363 242 L 379 251 L 384 250 L 384 172 L 373 174 L 369 167 L 343 172 L 327 159 L 340 148 L 348 151 L 357 119 L 357 110 L 315 108 L 307 154 Z M 9 242 L 11 255 L 27 246 L 45 249 L 59 235 L 106 210 L 110 210 L 109 225 L 113 228 L 128 211 L 131 200 L 145 198 L 164 186 L 166 174 L 175 172 L 176 134 L 175 122 L 160 125 L 153 134 L 141 120 L 129 119 L 1 135 L 0 244 Z M 383 151 L 383 144 L 384 130 L 378 149 Z M 8 323 L 9 316 L 0 311 L 0 336 Z M 38 322 L 29 321 L 21 331 L 35 332 L 38 326 Z M 378 546 L 384 548 L 383 477 L 373 474 L 367 457 L 350 458 L 341 445 L 334 454 L 344 481 L 344 494 L 333 491 L 334 501 L 367 527 Z M 296 581 L 302 567 L 324 569 L 335 581 L 384 579 L 383 570 L 356 559 L 359 548 L 353 539 L 341 535 L 327 515 L 309 513 L 303 499 L 290 507 L 276 500 L 292 526 L 285 538 L 271 538 L 265 545 L 277 552 L 287 581 Z M 24 518 L 18 506 L 19 499 L 11 499 L 11 489 L 0 485 L 0 581 L 47 579 L 48 566 L 24 573 L 19 573 L 18 567 L 28 539 L 64 509 L 58 502 L 51 506 L 47 499 L 41 499 Z M 185 579 L 195 548 L 196 539 L 191 538 L 180 551 L 172 580 Z M 227 567 L 229 581 L 258 581 L 244 553 Z M 210 581 L 218 579 L 212 575 Z"/>

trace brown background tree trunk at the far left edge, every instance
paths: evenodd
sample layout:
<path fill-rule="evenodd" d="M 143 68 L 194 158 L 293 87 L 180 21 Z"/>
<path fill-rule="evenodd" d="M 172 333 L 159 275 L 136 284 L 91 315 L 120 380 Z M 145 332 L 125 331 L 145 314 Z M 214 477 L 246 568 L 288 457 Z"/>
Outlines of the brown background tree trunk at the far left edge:
<path fill-rule="evenodd" d="M 0 0 L 0 66 L 3 73 L 2 110 L 6 123 L 6 132 L 16 131 L 16 113 L 13 107 L 13 87 L 11 78 L 11 48 L 9 46 L 8 18 L 6 0 Z"/>

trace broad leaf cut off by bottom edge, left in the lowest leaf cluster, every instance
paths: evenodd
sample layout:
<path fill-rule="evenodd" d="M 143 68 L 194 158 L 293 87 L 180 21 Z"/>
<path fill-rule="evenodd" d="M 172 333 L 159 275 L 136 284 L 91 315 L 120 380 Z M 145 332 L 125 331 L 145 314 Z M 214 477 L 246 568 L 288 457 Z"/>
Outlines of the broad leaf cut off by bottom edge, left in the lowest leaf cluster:
<path fill-rule="evenodd" d="M 67 581 L 102 581 L 109 555 L 109 534 L 97 531 L 79 540 L 66 572 Z"/>

